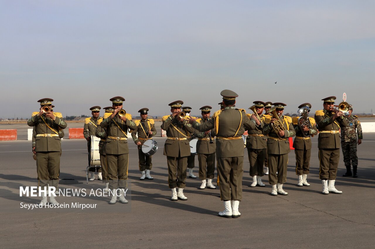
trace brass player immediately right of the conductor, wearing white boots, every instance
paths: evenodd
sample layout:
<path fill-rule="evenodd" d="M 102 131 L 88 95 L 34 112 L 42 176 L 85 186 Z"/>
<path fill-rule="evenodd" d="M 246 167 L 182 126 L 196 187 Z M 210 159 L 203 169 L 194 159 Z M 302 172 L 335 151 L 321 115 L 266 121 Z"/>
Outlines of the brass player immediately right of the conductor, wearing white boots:
<path fill-rule="evenodd" d="M 250 120 L 255 120 L 257 124 L 256 129 L 248 131 L 248 137 L 246 138 L 246 148 L 248 148 L 250 163 L 249 173 L 253 178 L 250 187 L 256 187 L 257 185 L 265 187 L 266 185 L 263 184 L 262 177 L 264 175 L 263 164 L 267 155 L 267 136 L 262 134 L 264 126 L 264 116 L 262 113 L 266 103 L 262 101 L 254 101 L 253 104 L 255 104 L 255 110 L 260 117 L 260 120 L 258 120 L 255 113 L 246 114 Z"/>

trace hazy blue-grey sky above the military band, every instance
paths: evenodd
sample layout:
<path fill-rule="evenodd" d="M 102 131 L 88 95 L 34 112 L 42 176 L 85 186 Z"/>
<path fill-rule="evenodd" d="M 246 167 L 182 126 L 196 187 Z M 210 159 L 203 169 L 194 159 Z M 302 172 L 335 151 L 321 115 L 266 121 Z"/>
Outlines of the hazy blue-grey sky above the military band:
<path fill-rule="evenodd" d="M 285 112 L 348 95 L 375 111 L 374 1 L 0 1 L 0 117 L 29 117 L 38 99 L 90 115 L 126 99 L 136 116 L 181 99 L 199 114 L 284 102 Z M 274 82 L 277 82 L 275 84 Z"/>

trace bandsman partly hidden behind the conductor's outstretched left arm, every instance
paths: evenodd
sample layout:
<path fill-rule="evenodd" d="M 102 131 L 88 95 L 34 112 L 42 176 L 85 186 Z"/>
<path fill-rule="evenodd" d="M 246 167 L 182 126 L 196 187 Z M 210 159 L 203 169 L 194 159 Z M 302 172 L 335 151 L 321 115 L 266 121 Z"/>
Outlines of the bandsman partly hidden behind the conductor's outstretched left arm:
<path fill-rule="evenodd" d="M 204 124 L 210 120 L 211 109 L 209 105 L 201 107 L 199 110 L 202 111 L 202 118 L 197 119 L 196 122 Z M 196 152 L 198 153 L 199 162 L 199 179 L 202 184 L 199 189 L 207 188 L 215 189 L 216 187 L 212 184 L 212 179 L 215 176 L 215 156 L 216 156 L 216 141 L 214 139 L 215 129 L 208 130 L 205 132 L 194 132 L 194 136 L 198 139 L 196 143 Z"/>

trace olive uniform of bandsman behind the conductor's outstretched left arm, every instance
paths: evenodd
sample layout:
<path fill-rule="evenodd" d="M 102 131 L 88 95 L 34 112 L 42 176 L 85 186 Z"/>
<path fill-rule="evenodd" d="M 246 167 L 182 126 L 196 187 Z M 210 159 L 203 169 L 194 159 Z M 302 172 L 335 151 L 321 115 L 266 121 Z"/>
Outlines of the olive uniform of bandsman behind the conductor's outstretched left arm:
<path fill-rule="evenodd" d="M 196 122 L 199 122 L 202 125 L 208 120 L 197 119 Z M 198 139 L 198 142 L 196 142 L 196 152 L 198 153 L 199 179 L 201 180 L 206 178 L 213 179 L 215 176 L 215 129 L 212 129 L 209 134 L 206 135 L 204 132 L 199 131 L 194 132 L 195 138 Z M 210 141 L 212 141 L 212 143 L 210 143 Z"/>

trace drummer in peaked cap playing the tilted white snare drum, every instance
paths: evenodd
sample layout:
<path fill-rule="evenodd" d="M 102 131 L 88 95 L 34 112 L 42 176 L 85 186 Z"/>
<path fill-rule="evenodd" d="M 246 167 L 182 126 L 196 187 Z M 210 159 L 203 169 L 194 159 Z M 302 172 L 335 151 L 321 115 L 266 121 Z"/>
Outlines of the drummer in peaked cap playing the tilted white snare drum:
<path fill-rule="evenodd" d="M 136 128 L 132 131 L 132 138 L 135 144 L 138 145 L 139 171 L 141 171 L 142 175 L 139 180 L 152 180 L 154 179 L 150 175 L 152 156 L 147 156 L 142 152 L 142 144 L 156 135 L 155 123 L 153 119 L 148 119 L 148 108 L 142 108 L 138 112 L 141 114 L 141 120 L 135 120 Z"/>

